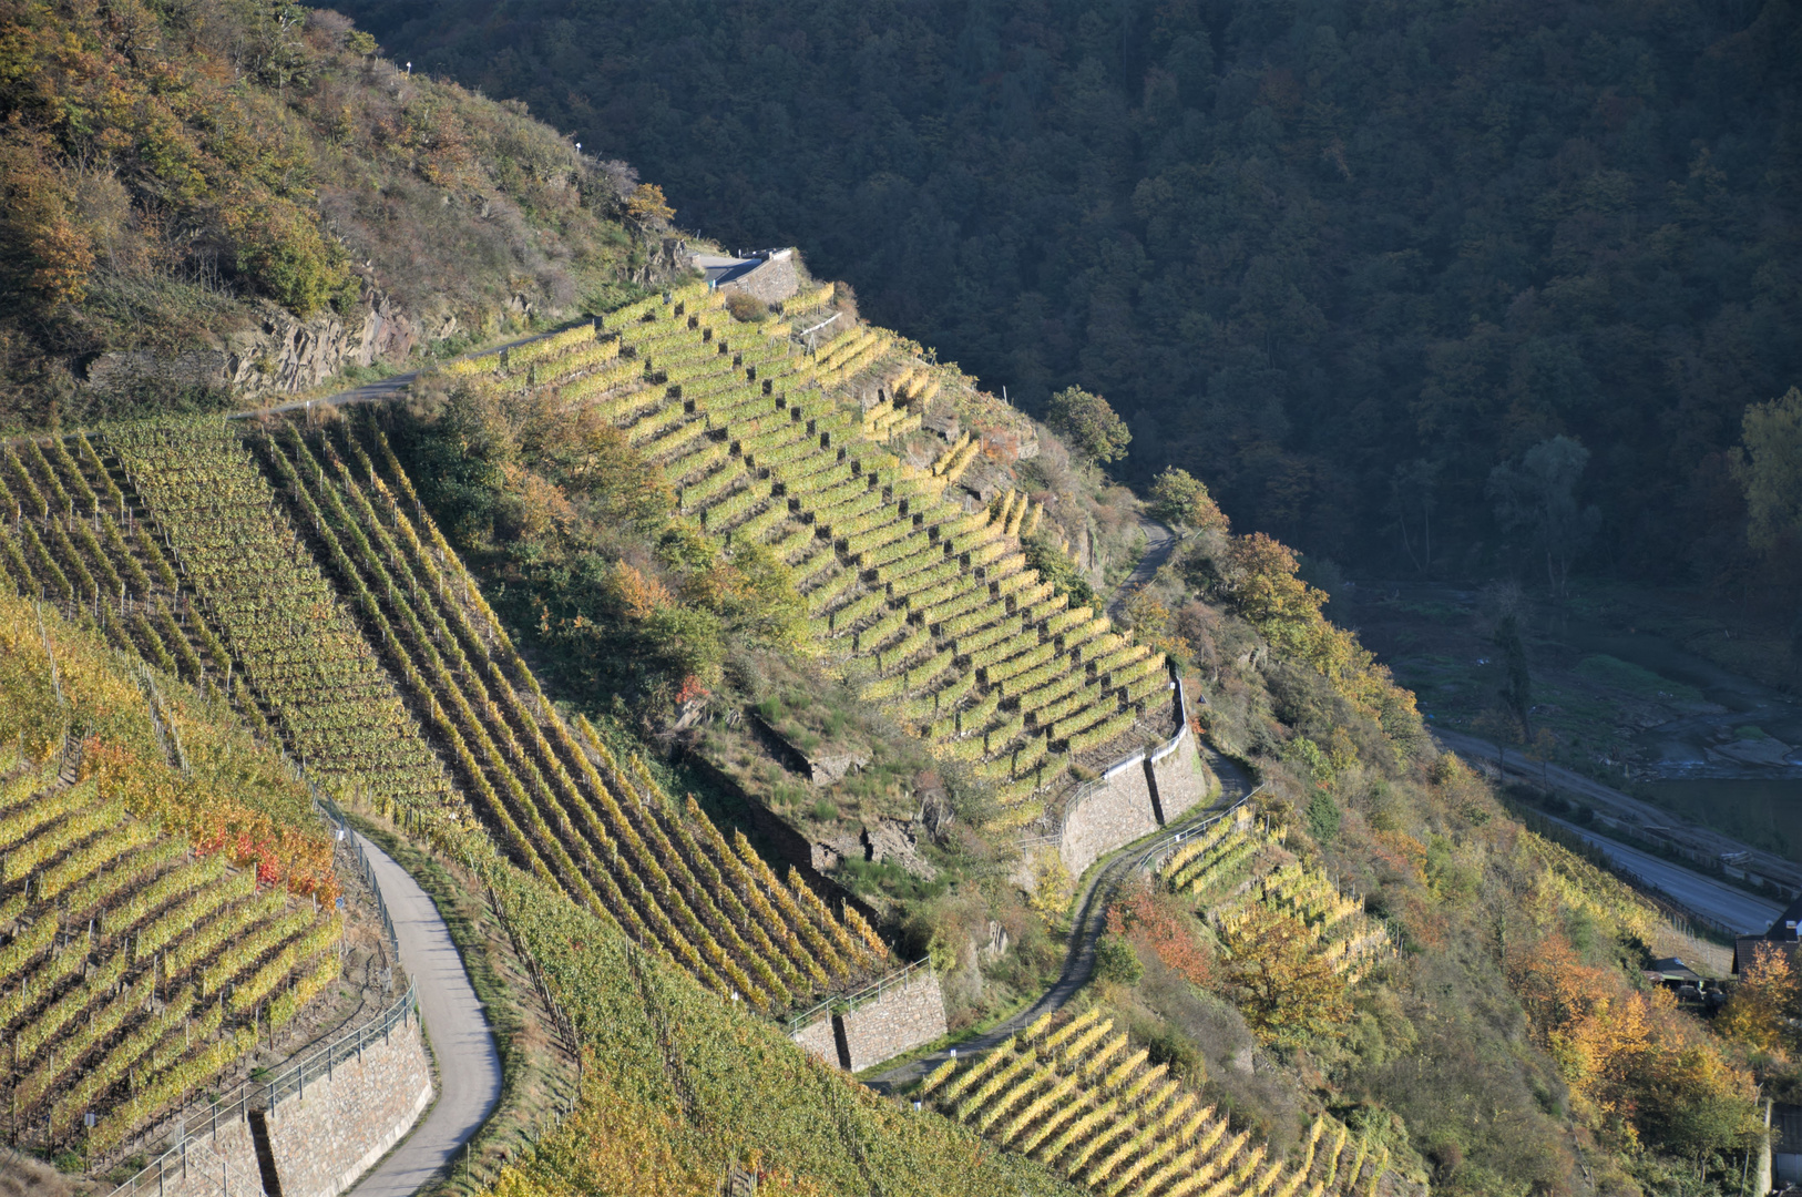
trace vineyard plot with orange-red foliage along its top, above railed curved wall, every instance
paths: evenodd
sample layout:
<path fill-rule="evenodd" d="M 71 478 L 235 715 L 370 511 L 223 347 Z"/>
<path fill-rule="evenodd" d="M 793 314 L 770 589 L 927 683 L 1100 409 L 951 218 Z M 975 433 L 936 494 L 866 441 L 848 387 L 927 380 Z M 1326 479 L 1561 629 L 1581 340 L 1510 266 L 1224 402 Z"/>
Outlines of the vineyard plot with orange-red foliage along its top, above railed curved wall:
<path fill-rule="evenodd" d="M 0 1085 L 13 1141 L 41 1152 L 105 1152 L 339 975 L 305 790 L 209 721 L 229 712 L 133 669 L 0 598 Z M 86 737 L 63 741 L 72 726 Z"/>

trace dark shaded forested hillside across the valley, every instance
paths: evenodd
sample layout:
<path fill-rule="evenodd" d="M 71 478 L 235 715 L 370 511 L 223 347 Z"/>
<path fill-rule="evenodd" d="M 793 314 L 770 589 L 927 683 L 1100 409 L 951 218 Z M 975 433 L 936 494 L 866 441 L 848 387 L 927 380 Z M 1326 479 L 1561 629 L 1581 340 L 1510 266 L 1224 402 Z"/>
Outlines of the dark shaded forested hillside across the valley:
<path fill-rule="evenodd" d="M 1782 0 L 348 11 L 1308 552 L 1526 555 L 1490 471 L 1568 434 L 1588 562 L 1744 564 L 1723 451 L 1802 370 Z"/>

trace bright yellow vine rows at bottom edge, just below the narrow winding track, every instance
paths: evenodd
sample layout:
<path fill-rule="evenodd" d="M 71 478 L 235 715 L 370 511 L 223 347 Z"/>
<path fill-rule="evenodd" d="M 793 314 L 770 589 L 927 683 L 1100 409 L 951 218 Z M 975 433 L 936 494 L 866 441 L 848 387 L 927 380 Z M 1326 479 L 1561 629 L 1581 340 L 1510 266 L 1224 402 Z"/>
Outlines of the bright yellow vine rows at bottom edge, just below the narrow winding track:
<path fill-rule="evenodd" d="M 948 1062 L 919 1094 L 1106 1197 L 1377 1192 L 1388 1152 L 1353 1141 L 1342 1123 L 1317 1119 L 1294 1165 L 1267 1159 L 1249 1130 L 1233 1134 L 1227 1116 L 1171 1080 L 1168 1065 L 1130 1049 L 1112 1019 L 1090 1010 L 1056 1029 L 1052 1020 L 1045 1015 L 977 1060 Z"/>

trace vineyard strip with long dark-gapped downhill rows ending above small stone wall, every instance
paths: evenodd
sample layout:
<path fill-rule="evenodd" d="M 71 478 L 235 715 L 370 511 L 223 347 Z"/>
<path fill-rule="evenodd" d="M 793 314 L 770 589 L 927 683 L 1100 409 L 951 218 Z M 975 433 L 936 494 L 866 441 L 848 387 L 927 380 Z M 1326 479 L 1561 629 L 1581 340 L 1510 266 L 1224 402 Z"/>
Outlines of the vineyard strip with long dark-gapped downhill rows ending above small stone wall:
<path fill-rule="evenodd" d="M 463 795 L 506 849 L 642 945 L 660 945 L 715 991 L 780 1010 L 888 964 L 854 909 L 833 918 L 742 836 L 728 844 L 678 806 L 643 763 L 622 764 L 564 723 L 474 580 L 422 514 L 377 438 L 377 469 L 342 429 L 292 425 L 256 449 L 351 608 L 427 712 Z M 409 514 L 411 510 L 411 514 Z"/>

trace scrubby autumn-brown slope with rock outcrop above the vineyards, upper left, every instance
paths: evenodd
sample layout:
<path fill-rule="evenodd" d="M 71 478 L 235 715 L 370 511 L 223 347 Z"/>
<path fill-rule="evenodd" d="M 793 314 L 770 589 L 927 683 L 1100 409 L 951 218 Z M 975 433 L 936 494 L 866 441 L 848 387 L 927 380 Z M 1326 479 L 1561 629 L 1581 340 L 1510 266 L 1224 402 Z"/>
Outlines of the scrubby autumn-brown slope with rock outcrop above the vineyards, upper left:
<path fill-rule="evenodd" d="M 661 254 L 625 166 L 341 16 L 23 0 L 0 29 L 0 427 L 305 389 L 618 303 Z"/>

